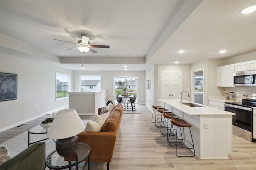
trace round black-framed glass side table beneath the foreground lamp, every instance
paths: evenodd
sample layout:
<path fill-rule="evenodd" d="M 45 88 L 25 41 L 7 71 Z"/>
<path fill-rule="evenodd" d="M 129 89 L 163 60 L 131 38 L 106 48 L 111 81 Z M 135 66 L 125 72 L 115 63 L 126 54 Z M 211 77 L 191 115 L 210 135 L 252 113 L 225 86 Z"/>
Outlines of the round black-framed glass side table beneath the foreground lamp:
<path fill-rule="evenodd" d="M 88 170 L 90 170 L 90 154 L 91 148 L 88 144 L 78 142 L 77 148 L 71 156 L 76 157 L 76 161 L 68 161 L 68 164 L 65 164 L 64 157 L 60 156 L 56 150 L 52 151 L 46 158 L 45 164 L 50 170 L 62 170 L 69 168 L 71 169 L 72 166 L 76 166 L 76 170 L 78 169 L 78 164 L 88 158 Z"/>

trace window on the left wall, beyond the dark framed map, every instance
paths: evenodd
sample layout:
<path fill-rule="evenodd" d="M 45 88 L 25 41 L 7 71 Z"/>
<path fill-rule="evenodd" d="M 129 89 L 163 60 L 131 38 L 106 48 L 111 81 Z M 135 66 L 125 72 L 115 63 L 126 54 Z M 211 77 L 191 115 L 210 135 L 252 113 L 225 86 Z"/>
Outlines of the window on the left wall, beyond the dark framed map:
<path fill-rule="evenodd" d="M 56 72 L 56 100 L 68 98 L 70 74 Z"/>

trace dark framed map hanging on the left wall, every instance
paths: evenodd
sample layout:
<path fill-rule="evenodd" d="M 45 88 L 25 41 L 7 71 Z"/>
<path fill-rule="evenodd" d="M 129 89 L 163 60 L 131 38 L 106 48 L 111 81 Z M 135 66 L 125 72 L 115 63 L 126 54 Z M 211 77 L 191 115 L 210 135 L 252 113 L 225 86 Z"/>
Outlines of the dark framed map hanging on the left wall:
<path fill-rule="evenodd" d="M 0 73 L 0 102 L 17 99 L 18 74 Z"/>

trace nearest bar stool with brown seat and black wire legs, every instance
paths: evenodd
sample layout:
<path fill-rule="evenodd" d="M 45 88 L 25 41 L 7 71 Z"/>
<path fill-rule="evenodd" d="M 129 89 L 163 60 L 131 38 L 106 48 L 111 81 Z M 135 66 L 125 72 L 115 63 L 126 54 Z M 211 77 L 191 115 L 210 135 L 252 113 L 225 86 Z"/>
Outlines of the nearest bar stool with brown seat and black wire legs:
<path fill-rule="evenodd" d="M 190 129 L 190 127 L 192 127 L 192 125 L 190 125 L 188 122 L 186 122 L 183 119 L 172 119 L 171 118 L 170 121 L 171 121 L 172 125 L 175 125 L 177 127 L 176 128 L 176 140 L 174 142 L 174 144 L 176 146 L 176 156 L 178 156 L 178 154 L 177 154 L 177 147 L 186 148 L 186 149 L 193 149 L 194 150 L 194 153 L 192 155 L 189 155 L 189 156 L 178 156 L 178 157 L 193 157 L 193 156 L 195 156 L 196 153 L 195 153 L 195 148 L 194 148 L 194 142 L 193 142 L 192 133 L 191 133 L 191 129 Z M 180 127 L 181 139 L 180 138 L 177 139 L 177 137 L 178 137 L 178 127 Z M 182 131 L 181 131 L 181 127 L 183 127 L 183 134 L 182 134 Z M 185 127 L 189 128 L 192 143 L 190 143 L 187 139 L 185 139 L 185 133 L 184 133 L 184 128 Z M 178 142 L 179 144 L 177 144 L 177 140 L 180 140 L 181 142 Z M 184 146 L 185 141 L 187 141 L 191 145 L 191 147 Z"/>

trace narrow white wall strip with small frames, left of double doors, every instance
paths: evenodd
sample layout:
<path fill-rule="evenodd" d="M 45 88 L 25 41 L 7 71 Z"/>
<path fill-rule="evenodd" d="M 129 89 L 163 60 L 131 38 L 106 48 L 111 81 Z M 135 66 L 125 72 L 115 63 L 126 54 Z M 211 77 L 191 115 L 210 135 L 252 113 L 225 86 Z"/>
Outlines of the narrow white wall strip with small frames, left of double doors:
<path fill-rule="evenodd" d="M 150 90 L 146 89 L 146 106 L 152 109 L 152 105 L 154 105 L 154 66 L 148 68 L 145 71 L 145 86 L 146 80 L 150 80 Z"/>

